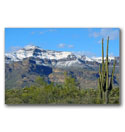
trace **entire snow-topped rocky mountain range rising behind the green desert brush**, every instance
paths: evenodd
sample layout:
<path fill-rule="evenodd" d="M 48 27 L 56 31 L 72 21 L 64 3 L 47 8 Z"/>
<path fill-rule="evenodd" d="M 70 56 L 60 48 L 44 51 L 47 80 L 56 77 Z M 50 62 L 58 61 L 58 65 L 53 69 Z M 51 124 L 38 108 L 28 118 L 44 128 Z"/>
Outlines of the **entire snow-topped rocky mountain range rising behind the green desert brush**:
<path fill-rule="evenodd" d="M 115 84 L 119 82 L 119 58 L 117 57 Z M 114 57 L 109 57 L 112 68 Z M 98 66 L 101 57 L 89 58 L 71 52 L 43 50 L 26 46 L 16 52 L 5 54 L 5 87 L 23 88 L 35 83 L 42 76 L 49 83 L 63 83 L 64 72 L 75 77 L 83 88 L 97 87 Z"/>

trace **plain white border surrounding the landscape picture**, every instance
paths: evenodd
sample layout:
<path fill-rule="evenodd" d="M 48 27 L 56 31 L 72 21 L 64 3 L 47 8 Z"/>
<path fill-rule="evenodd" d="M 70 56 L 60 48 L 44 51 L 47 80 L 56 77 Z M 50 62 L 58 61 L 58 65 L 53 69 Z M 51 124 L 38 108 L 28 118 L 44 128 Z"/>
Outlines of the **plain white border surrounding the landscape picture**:
<path fill-rule="evenodd" d="M 0 1 L 0 131 L 1 132 L 123 132 L 124 0 L 1 0 Z M 20 106 L 4 105 L 5 27 L 119 27 L 122 53 L 122 105 Z"/>

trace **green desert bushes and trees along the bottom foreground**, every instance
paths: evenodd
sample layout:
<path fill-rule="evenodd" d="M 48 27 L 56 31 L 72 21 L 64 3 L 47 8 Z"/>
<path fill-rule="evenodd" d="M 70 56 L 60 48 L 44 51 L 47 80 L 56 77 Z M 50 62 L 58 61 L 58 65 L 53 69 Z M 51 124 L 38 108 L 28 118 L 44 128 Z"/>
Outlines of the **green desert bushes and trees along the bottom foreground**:
<path fill-rule="evenodd" d="M 46 83 L 38 77 L 37 84 L 5 91 L 6 104 L 102 104 L 99 89 L 83 89 L 72 77 L 65 75 L 64 84 Z M 113 88 L 109 104 L 119 104 L 119 88 Z"/>

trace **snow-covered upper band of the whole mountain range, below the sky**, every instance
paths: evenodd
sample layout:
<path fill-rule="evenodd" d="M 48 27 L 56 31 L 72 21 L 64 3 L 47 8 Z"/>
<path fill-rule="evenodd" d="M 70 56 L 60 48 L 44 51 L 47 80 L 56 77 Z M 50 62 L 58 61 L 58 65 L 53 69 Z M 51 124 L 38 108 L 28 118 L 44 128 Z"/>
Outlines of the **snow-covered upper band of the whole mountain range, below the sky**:
<path fill-rule="evenodd" d="M 101 57 L 89 58 L 85 55 L 75 55 L 72 52 L 44 50 L 40 47 L 28 45 L 20 50 L 5 54 L 5 62 L 22 61 L 23 59 L 32 57 L 36 64 L 49 65 L 57 67 L 66 66 L 82 66 L 85 63 L 101 63 Z M 114 57 L 109 57 L 114 60 Z"/>

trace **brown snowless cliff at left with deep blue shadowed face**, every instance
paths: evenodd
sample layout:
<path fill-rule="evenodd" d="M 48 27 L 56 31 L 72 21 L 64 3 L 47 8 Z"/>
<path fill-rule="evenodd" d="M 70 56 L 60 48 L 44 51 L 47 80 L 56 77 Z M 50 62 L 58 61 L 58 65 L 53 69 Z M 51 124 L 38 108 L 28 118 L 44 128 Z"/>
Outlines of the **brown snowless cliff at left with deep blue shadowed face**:
<path fill-rule="evenodd" d="M 51 73 L 51 67 L 37 65 L 30 58 L 5 64 L 5 87 L 10 89 L 30 86 L 38 76 L 43 76 L 49 82 L 48 75 Z"/>

